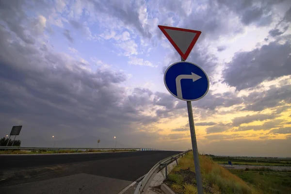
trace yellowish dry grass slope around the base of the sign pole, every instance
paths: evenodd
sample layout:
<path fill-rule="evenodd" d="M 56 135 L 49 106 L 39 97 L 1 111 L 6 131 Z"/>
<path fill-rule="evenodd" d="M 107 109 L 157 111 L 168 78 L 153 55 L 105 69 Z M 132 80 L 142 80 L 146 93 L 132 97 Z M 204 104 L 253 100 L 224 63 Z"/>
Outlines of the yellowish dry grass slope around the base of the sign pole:
<path fill-rule="evenodd" d="M 205 194 L 259 194 L 241 178 L 213 162 L 208 156 L 199 156 Z M 166 181 L 176 194 L 196 194 L 193 153 L 179 160 Z"/>

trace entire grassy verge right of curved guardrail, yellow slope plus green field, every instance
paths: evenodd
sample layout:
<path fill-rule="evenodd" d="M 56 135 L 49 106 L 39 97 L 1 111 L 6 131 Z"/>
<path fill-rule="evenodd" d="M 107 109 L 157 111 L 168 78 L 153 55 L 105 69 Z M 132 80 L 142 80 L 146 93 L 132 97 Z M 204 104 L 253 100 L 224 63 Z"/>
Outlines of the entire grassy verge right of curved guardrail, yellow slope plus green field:
<path fill-rule="evenodd" d="M 225 169 L 205 155 L 199 155 L 199 162 L 204 194 L 291 194 L 291 172 Z M 165 183 L 176 194 L 197 194 L 192 152 L 179 160 Z"/>

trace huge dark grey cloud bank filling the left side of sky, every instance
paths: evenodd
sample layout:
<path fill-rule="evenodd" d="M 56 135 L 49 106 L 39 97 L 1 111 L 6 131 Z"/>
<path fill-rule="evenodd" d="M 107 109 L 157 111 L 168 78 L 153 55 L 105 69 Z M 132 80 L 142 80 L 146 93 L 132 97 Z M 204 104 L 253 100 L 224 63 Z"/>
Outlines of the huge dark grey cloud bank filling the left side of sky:
<path fill-rule="evenodd" d="M 31 128 L 28 130 L 42 129 L 44 133 L 64 130 L 62 125 L 66 125 L 79 134 L 110 129 L 109 133 L 120 135 L 117 129 L 123 133 L 135 130 L 132 123 L 146 125 L 158 120 L 136 108 L 150 91 L 136 88 L 125 96 L 125 89 L 118 86 L 126 80 L 123 73 L 90 72 L 86 64 L 65 54 L 17 41 L 9 44 L 11 34 L 3 28 L 0 37 L 1 123 L 13 125 L 10 119 L 15 118 Z"/>

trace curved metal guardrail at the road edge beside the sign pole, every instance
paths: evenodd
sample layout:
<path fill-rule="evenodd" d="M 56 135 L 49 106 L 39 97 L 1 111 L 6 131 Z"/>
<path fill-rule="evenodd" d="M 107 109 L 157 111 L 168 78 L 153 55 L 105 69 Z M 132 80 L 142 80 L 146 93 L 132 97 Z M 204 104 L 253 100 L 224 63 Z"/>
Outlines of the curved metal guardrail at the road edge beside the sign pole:
<path fill-rule="evenodd" d="M 147 191 L 147 188 L 149 187 L 151 181 L 153 180 L 153 178 L 156 176 L 157 173 L 159 173 L 163 168 L 165 168 L 165 173 L 166 173 L 166 179 L 168 177 L 168 170 L 167 170 L 167 166 L 168 164 L 176 161 L 178 164 L 178 158 L 180 156 L 183 157 L 184 154 L 187 154 L 189 151 L 191 151 L 192 149 L 189 149 L 187 151 L 181 152 L 179 154 L 170 156 L 168 158 L 165 158 L 163 160 L 161 160 L 160 162 L 156 163 L 156 165 L 154 165 L 154 167 L 152 167 L 148 173 L 146 174 L 146 176 L 143 178 L 142 181 L 139 182 L 139 184 L 137 185 L 134 194 L 145 194 Z"/>

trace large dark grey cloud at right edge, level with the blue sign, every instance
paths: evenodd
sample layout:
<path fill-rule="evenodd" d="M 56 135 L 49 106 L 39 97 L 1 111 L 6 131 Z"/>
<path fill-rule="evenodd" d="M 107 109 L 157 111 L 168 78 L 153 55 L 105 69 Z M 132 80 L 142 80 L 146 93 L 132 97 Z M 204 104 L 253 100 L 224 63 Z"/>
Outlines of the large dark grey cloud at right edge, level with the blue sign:
<path fill-rule="evenodd" d="M 225 83 L 237 90 L 251 88 L 262 81 L 291 74 L 291 42 L 278 41 L 249 52 L 235 53 L 223 71 Z"/>

